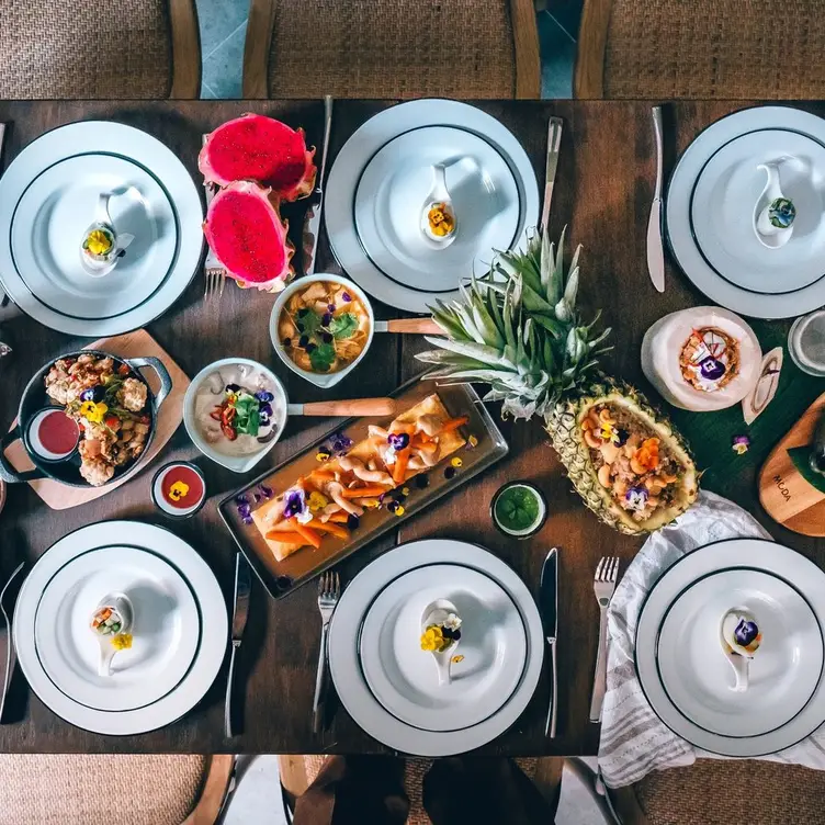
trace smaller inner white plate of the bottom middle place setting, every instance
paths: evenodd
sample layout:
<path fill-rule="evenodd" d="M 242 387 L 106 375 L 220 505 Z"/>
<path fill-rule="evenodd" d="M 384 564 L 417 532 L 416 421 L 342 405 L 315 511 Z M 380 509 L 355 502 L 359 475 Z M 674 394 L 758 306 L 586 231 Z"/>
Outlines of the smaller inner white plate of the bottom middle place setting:
<path fill-rule="evenodd" d="M 420 647 L 423 611 L 448 599 L 462 619 L 449 685 Z M 524 623 L 494 579 L 468 567 L 419 567 L 389 584 L 361 629 L 361 667 L 374 697 L 423 731 L 461 731 L 491 716 L 512 696 L 527 665 Z"/>

